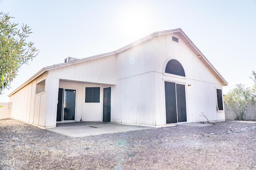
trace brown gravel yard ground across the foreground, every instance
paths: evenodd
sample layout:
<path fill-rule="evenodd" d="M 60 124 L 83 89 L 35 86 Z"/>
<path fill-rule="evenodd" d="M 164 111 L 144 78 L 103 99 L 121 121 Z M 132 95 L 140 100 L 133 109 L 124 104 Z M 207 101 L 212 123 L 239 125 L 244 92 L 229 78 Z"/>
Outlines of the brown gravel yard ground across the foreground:
<path fill-rule="evenodd" d="M 256 121 L 72 138 L 0 120 L 0 170 L 256 169 Z"/>

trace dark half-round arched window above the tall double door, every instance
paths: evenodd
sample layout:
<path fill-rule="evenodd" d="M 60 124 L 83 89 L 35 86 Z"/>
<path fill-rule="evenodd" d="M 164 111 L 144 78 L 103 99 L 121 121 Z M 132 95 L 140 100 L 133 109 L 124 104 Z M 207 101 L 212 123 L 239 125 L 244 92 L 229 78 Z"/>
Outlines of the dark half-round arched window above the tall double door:
<path fill-rule="evenodd" d="M 168 61 L 166 64 L 165 72 L 185 77 L 185 72 L 182 65 L 175 59 Z"/>

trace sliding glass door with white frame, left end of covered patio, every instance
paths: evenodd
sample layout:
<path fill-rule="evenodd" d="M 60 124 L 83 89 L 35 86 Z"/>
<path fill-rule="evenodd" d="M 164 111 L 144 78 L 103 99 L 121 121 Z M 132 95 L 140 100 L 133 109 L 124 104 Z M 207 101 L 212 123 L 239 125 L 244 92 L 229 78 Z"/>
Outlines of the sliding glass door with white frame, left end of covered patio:
<path fill-rule="evenodd" d="M 56 121 L 74 121 L 76 112 L 76 90 L 59 88 Z"/>

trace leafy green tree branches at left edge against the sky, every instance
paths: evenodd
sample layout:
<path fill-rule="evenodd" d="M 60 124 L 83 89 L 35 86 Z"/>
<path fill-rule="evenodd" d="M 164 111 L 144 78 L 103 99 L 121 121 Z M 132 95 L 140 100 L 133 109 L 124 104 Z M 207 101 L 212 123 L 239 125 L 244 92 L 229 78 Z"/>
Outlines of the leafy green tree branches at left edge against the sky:
<path fill-rule="evenodd" d="M 9 88 L 20 66 L 38 55 L 34 43 L 26 41 L 32 33 L 30 27 L 22 24 L 20 30 L 18 23 L 10 22 L 11 18 L 0 12 L 0 94 Z"/>

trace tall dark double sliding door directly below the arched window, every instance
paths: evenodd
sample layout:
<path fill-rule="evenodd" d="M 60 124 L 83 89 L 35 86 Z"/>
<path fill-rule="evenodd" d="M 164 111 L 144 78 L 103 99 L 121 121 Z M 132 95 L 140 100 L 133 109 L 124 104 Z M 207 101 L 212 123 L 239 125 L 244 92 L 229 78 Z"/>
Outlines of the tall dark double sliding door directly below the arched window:
<path fill-rule="evenodd" d="M 187 121 L 185 85 L 164 82 L 166 124 Z"/>

